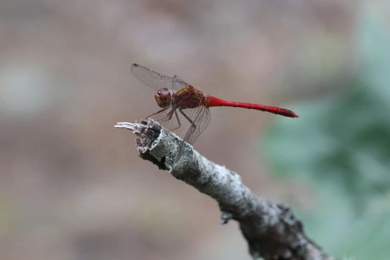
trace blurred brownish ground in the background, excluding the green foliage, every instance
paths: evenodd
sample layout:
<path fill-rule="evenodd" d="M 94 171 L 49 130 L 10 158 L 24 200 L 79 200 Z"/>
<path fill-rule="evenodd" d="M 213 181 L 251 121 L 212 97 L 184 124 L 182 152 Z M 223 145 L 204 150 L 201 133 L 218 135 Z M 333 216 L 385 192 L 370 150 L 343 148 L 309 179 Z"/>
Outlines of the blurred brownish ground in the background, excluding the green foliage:
<path fill-rule="evenodd" d="M 250 259 L 212 199 L 113 127 L 157 109 L 130 65 L 289 108 L 343 90 L 361 2 L 0 0 L 0 259 Z M 195 148 L 259 196 L 304 202 L 255 144 L 274 117 L 214 108 Z"/>

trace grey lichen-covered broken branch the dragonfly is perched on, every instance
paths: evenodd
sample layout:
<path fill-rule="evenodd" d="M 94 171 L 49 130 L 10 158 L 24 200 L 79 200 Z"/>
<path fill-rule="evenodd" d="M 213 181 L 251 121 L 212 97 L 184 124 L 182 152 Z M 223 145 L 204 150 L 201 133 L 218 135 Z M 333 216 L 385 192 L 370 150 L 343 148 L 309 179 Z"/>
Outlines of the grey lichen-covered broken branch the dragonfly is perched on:
<path fill-rule="evenodd" d="M 288 205 L 258 198 L 236 172 L 206 159 L 190 144 L 184 143 L 183 155 L 173 165 L 181 139 L 157 122 L 141 120 L 139 124 L 118 123 L 115 127 L 141 137 L 135 140 L 139 157 L 214 198 L 222 211 L 220 223 L 231 219 L 240 223 L 254 259 L 334 260 L 306 237 L 302 223 Z"/>

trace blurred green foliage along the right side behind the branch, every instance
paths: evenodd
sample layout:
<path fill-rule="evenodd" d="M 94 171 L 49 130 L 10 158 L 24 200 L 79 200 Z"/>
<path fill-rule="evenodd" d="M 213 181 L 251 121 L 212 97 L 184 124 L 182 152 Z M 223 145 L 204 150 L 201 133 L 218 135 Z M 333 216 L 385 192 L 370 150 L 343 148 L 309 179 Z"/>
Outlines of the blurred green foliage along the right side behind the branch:
<path fill-rule="evenodd" d="M 359 72 L 349 92 L 292 110 L 261 140 L 278 178 L 305 183 L 316 201 L 292 204 L 308 236 L 342 259 L 390 259 L 390 33 L 384 16 L 360 17 Z"/>

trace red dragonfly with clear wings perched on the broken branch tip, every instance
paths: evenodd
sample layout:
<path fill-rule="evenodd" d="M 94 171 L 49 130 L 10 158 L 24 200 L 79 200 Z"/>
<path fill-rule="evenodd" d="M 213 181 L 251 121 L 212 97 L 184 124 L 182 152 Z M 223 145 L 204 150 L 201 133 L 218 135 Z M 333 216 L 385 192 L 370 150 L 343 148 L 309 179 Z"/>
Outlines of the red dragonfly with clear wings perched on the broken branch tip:
<path fill-rule="evenodd" d="M 211 107 L 254 109 L 284 117 L 299 118 L 297 114 L 287 109 L 226 101 L 206 96 L 201 90 L 184 82 L 176 75 L 170 77 L 135 63 L 131 65 L 131 72 L 135 78 L 156 91 L 154 100 L 161 108 L 144 120 L 151 118 L 168 131 L 176 134 L 187 129 L 175 161 L 181 156 L 183 143 L 193 144 L 199 135 L 206 130 L 211 120 Z"/>

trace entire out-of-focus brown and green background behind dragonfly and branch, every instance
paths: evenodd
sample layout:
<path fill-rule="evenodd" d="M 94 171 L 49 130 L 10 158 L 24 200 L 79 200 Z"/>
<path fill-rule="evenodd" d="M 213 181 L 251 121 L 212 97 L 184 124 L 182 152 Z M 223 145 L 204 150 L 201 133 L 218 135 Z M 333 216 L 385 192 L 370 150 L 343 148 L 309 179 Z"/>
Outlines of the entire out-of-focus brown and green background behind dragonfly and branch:
<path fill-rule="evenodd" d="M 0 259 L 247 259 L 211 198 L 138 158 L 139 63 L 221 99 L 195 142 L 337 258 L 390 256 L 388 0 L 0 0 Z"/>

